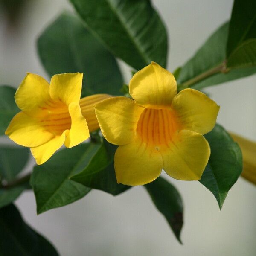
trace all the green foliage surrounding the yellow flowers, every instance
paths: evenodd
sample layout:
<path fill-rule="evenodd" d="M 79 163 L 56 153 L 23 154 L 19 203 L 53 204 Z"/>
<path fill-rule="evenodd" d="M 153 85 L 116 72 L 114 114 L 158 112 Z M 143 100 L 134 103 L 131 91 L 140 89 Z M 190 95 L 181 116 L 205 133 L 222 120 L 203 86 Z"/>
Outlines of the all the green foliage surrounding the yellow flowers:
<path fill-rule="evenodd" d="M 82 72 L 82 96 L 108 93 L 129 97 L 128 86 L 122 87 L 115 57 L 136 70 L 151 61 L 166 66 L 166 30 L 150 0 L 70 2 L 81 20 L 65 12 L 38 38 L 38 54 L 50 76 Z M 200 90 L 256 73 L 255 10 L 256 1 L 234 1 L 230 22 L 220 26 L 183 67 L 175 70 L 179 90 Z M 0 135 L 19 111 L 14 94 L 14 88 L 0 87 Z M 241 150 L 220 125 L 205 137 L 211 155 L 200 182 L 212 192 L 221 209 L 241 175 Z M 35 166 L 30 184 L 38 214 L 70 204 L 91 189 L 111 195 L 130 189 L 116 182 L 115 151 L 116 146 L 95 131 L 90 143 L 61 150 L 43 165 Z M 29 187 L 29 176 L 17 179 L 28 156 L 27 148 L 0 146 L 0 255 L 58 255 L 52 245 L 23 222 L 15 206 L 9 205 Z M 146 184 L 145 189 L 180 241 L 183 204 L 177 189 L 162 177 Z"/>

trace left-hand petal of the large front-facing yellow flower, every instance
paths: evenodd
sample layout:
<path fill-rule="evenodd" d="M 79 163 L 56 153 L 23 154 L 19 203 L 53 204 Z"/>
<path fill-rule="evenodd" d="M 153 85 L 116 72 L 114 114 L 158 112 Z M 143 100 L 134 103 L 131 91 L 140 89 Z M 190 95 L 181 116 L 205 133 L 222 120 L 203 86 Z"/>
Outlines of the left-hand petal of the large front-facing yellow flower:
<path fill-rule="evenodd" d="M 115 145 L 125 145 L 134 140 L 143 110 L 132 99 L 125 97 L 105 99 L 95 106 L 103 136 Z"/>

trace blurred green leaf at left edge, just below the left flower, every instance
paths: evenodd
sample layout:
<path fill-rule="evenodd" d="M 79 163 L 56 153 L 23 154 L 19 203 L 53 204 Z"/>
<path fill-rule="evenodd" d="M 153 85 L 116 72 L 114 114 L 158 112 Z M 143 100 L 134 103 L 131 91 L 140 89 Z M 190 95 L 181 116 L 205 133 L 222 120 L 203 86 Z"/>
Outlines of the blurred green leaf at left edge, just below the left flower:
<path fill-rule="evenodd" d="M 12 181 L 29 160 L 29 149 L 0 145 L 0 177 Z"/>

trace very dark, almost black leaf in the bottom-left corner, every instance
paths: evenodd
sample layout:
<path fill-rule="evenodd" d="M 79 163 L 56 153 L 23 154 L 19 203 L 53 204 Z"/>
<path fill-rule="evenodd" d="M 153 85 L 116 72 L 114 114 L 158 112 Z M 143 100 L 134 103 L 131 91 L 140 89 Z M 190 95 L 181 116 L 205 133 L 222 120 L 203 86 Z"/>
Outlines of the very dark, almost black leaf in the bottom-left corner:
<path fill-rule="evenodd" d="M 55 248 L 21 218 L 12 204 L 0 209 L 0 255 L 58 256 Z"/>

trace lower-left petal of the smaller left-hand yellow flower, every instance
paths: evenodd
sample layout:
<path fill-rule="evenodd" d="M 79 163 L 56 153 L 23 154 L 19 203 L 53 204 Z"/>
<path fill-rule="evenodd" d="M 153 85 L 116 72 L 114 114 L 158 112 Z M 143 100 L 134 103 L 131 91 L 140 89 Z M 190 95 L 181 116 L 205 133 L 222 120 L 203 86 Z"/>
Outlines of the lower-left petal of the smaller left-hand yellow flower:
<path fill-rule="evenodd" d="M 15 143 L 25 147 L 37 147 L 54 137 L 40 125 L 40 121 L 23 112 L 14 116 L 5 134 Z"/>

